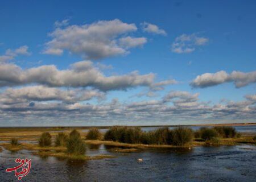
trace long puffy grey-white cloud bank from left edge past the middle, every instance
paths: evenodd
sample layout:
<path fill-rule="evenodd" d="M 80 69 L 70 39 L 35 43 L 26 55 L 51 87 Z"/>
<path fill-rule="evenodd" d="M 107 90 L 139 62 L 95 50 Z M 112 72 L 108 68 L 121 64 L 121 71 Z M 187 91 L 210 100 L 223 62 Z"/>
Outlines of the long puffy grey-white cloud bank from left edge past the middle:
<path fill-rule="evenodd" d="M 69 69 L 59 70 L 55 65 L 22 69 L 15 64 L 2 64 L 0 86 L 42 84 L 47 86 L 92 87 L 102 91 L 126 90 L 154 84 L 154 73 L 139 75 L 138 71 L 120 76 L 105 76 L 91 61 L 80 61 Z"/>

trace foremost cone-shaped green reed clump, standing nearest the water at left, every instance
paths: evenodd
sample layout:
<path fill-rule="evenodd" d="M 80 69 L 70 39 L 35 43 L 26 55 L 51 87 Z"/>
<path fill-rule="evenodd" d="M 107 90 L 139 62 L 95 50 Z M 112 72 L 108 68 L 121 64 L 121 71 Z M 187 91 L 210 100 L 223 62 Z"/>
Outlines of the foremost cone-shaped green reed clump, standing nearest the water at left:
<path fill-rule="evenodd" d="M 86 151 L 84 141 L 81 139 L 81 135 L 78 131 L 73 130 L 69 134 L 67 141 L 67 152 L 72 155 L 82 155 Z"/>

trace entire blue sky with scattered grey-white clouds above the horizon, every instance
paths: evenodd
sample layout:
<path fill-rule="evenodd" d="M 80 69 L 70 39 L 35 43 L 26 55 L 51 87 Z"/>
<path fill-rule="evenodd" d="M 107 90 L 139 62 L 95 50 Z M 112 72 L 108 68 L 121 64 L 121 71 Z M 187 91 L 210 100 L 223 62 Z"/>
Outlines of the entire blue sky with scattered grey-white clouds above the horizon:
<path fill-rule="evenodd" d="M 255 1 L 1 1 L 0 126 L 255 122 Z"/>

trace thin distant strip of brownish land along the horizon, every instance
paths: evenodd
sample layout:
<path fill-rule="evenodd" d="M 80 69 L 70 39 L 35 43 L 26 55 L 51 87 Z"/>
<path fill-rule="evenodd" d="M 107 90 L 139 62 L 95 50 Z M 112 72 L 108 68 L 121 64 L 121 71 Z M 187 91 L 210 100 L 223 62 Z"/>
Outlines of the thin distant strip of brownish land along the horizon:
<path fill-rule="evenodd" d="M 191 127 L 191 126 L 256 126 L 256 123 L 218 123 L 218 124 L 196 124 L 196 125 L 122 125 L 122 126 L 130 126 L 130 127 Z M 89 129 L 92 127 L 96 127 L 98 129 L 109 129 L 112 126 L 4 126 L 0 127 L 0 129 L 14 129 L 14 128 L 22 128 L 22 129 L 31 129 L 31 128 L 44 128 L 44 129 Z"/>

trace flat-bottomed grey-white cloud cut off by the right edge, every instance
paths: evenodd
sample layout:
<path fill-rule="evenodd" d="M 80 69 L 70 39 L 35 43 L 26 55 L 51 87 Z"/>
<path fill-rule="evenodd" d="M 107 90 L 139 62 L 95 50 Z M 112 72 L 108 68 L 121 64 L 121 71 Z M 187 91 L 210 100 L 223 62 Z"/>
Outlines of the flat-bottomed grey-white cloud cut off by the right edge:
<path fill-rule="evenodd" d="M 223 84 L 225 82 L 234 82 L 236 88 L 241 88 L 242 86 L 256 82 L 256 71 L 248 73 L 233 71 L 230 74 L 225 71 L 204 73 L 203 75 L 197 76 L 191 82 L 191 86 L 194 88 L 205 88 L 208 86 Z"/>

